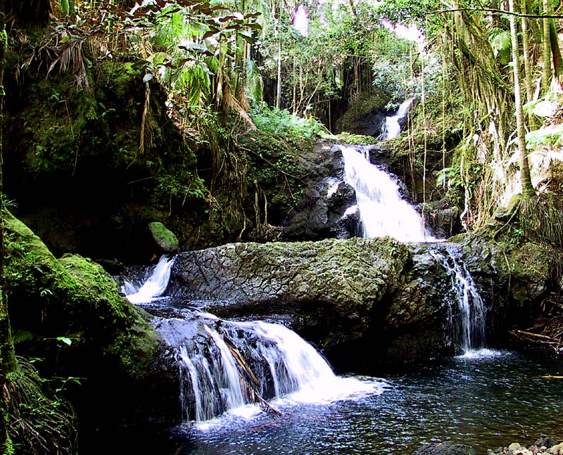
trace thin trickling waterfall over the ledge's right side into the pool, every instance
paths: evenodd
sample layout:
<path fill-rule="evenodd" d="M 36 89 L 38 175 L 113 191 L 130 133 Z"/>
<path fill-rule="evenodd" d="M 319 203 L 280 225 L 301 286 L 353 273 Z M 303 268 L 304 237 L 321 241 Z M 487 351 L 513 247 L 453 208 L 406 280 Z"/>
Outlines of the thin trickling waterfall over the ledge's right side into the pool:
<path fill-rule="evenodd" d="M 459 315 L 454 317 L 450 305 L 449 323 L 453 329 L 456 346 L 464 354 L 485 346 L 485 306 L 476 289 L 466 264 L 459 258 L 454 245 L 446 245 L 444 252 L 434 250 L 431 254 L 443 265 L 451 278 L 452 290 Z"/>

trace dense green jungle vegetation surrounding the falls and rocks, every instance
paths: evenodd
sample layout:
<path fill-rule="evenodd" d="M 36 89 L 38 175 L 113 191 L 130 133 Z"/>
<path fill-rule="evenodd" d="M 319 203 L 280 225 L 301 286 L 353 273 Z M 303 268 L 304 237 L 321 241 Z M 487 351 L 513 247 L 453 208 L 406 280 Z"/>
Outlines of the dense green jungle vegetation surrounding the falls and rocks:
<path fill-rule="evenodd" d="M 460 207 L 465 231 L 496 216 L 506 224 L 495 238 L 550 248 L 554 286 L 536 335 L 557 345 L 562 8 L 558 0 L 1 0 L 0 170 L 10 169 L 0 174 L 2 454 L 75 453 L 75 418 L 16 357 L 8 210 L 56 255 L 125 262 L 132 253 L 116 245 L 141 238 L 135 226 L 151 221 L 165 222 L 184 248 L 276 240 L 303 193 L 295 162 L 304 150 L 374 143 L 377 134 L 355 134 L 350 117 L 393 113 L 410 97 L 407 131 L 389 147 L 413 200 Z M 68 380 L 54 388 L 64 392 Z"/>

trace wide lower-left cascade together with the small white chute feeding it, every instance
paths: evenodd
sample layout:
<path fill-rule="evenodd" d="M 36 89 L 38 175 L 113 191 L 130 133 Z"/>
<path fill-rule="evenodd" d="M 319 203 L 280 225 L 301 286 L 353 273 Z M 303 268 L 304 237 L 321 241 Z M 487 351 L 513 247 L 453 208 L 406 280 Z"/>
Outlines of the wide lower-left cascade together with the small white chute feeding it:
<path fill-rule="evenodd" d="M 129 301 L 146 303 L 161 295 L 171 264 L 170 259 L 162 259 L 140 288 L 123 286 L 125 293 L 131 293 Z M 265 401 L 272 398 L 330 402 L 384 389 L 377 380 L 336 376 L 308 342 L 280 324 L 225 321 L 172 307 L 165 309 L 164 316 L 158 315 L 158 309 L 152 311 L 157 331 L 177 350 L 186 421 L 201 423 L 253 403 L 275 412 Z"/>

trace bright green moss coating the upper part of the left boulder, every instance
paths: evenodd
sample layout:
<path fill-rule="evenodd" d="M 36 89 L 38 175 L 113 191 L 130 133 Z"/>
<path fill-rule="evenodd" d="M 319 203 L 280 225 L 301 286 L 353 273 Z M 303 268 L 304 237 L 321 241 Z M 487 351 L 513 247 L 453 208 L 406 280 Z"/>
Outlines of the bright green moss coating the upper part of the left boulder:
<path fill-rule="evenodd" d="M 6 229 L 8 301 L 16 330 L 42 338 L 80 337 L 68 350 L 96 352 L 120 371 L 121 378 L 137 380 L 152 372 L 147 369 L 162 340 L 148 326 L 148 316 L 119 295 L 115 281 L 99 264 L 77 255 L 56 259 L 9 214 Z M 91 361 L 87 369 L 96 369 Z M 80 374 L 84 371 L 75 376 Z"/>

